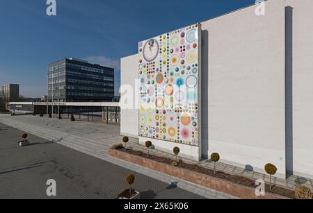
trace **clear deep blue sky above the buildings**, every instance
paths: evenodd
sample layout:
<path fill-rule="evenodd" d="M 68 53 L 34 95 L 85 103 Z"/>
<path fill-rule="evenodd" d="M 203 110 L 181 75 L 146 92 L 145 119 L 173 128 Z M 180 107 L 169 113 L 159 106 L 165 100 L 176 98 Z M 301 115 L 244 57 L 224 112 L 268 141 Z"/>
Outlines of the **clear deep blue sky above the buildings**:
<path fill-rule="evenodd" d="M 1 0 L 0 85 L 19 83 L 24 96 L 47 92 L 47 65 L 81 58 L 116 67 L 137 52 L 138 41 L 202 22 L 255 0 Z M 118 90 L 116 90 L 118 92 Z"/>

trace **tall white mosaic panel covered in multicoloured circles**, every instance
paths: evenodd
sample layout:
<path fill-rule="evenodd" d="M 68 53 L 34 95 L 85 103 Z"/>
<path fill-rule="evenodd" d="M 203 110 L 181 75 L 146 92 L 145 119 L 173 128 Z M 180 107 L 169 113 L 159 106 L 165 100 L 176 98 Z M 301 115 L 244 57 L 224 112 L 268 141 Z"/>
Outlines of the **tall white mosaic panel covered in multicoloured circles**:
<path fill-rule="evenodd" d="M 139 136 L 198 146 L 200 26 L 138 44 Z"/>

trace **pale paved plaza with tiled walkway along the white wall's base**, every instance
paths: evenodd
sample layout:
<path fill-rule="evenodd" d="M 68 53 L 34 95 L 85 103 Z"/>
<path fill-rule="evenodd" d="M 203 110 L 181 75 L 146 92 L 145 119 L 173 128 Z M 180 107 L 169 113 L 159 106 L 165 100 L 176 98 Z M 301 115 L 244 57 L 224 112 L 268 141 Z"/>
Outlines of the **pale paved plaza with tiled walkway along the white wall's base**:
<path fill-rule="evenodd" d="M 71 122 L 69 120 L 61 120 L 60 128 L 56 128 L 56 120 L 54 120 L 54 127 L 51 126 L 51 120 L 49 119 L 49 126 L 47 126 L 47 120 L 42 117 L 33 116 L 4 116 L 0 115 L 0 122 L 5 123 L 8 126 L 14 126 L 20 130 L 24 130 L 34 135 L 38 135 L 45 139 L 50 139 L 63 144 L 70 148 L 74 148 L 83 153 L 93 155 L 102 159 L 109 159 L 106 155 L 111 146 L 122 142 L 122 136 L 120 135 L 120 127 L 116 125 L 106 125 L 105 123 L 87 123 L 87 122 Z M 145 147 L 138 144 L 138 139 L 131 138 L 129 142 L 129 148 L 135 150 L 145 151 Z M 164 157 L 171 157 L 175 159 L 174 155 L 164 153 L 162 151 L 152 150 L 152 154 L 160 155 Z M 184 162 L 191 164 L 199 164 L 202 167 L 212 169 L 214 164 L 209 160 L 203 160 L 202 162 L 194 162 L 192 160 L 183 159 Z M 269 182 L 269 176 L 255 171 L 247 171 L 239 167 L 234 167 L 228 164 L 218 163 L 217 169 L 225 173 L 238 174 L 252 179 L 264 179 Z M 146 171 L 147 169 L 143 169 Z M 275 178 L 275 184 L 281 187 L 287 187 L 293 189 L 298 183 L 305 185 L 313 190 L 312 180 L 307 178 L 301 178 L 298 176 L 290 176 L 287 180 Z M 187 183 L 186 185 L 188 185 Z M 185 187 L 185 185 L 183 185 Z M 197 188 L 198 186 L 194 186 Z M 188 189 L 188 187 L 186 187 Z M 205 189 L 201 189 L 202 192 Z M 201 191 L 200 190 L 200 191 Z"/>

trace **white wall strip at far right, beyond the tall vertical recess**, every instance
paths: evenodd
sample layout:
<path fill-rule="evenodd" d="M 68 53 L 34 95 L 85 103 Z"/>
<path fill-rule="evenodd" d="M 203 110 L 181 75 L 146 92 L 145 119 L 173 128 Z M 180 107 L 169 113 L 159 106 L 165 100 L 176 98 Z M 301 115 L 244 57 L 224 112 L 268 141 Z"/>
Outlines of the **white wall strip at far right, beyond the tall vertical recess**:
<path fill-rule="evenodd" d="M 292 9 L 292 114 L 287 170 L 313 178 L 313 1 L 287 0 Z"/>

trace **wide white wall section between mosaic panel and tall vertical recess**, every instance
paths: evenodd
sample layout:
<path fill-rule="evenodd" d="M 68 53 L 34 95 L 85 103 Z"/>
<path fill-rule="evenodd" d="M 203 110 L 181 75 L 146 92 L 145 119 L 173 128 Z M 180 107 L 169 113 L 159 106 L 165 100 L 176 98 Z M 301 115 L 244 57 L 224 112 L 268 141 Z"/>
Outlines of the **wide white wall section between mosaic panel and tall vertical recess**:
<path fill-rule="evenodd" d="M 209 151 L 223 162 L 285 176 L 284 0 L 202 23 L 208 31 Z M 203 127 L 204 128 L 204 127 Z"/>

